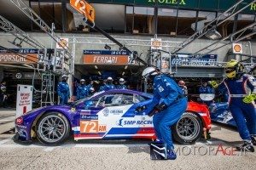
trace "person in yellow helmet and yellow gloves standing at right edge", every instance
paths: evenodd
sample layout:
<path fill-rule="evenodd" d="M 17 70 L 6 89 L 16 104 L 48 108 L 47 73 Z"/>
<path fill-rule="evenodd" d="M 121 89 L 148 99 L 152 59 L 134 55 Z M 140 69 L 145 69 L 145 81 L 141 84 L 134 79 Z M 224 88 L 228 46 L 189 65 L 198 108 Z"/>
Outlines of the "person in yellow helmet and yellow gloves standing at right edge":
<path fill-rule="evenodd" d="M 256 111 L 254 99 L 256 99 L 256 79 L 243 72 L 244 67 L 240 62 L 231 59 L 225 66 L 227 78 L 217 84 L 212 81 L 213 88 L 220 91 L 227 88 L 229 92 L 230 112 L 234 117 L 241 139 L 244 144 L 237 147 L 238 150 L 254 151 L 256 144 L 253 136 L 256 134 Z"/>

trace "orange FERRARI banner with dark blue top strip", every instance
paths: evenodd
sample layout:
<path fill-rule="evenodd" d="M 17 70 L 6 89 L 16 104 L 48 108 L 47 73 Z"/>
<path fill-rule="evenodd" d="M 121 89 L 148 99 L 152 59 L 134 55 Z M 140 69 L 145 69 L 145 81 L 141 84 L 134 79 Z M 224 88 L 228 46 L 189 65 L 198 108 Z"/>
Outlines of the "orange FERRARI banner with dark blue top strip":
<path fill-rule="evenodd" d="M 131 57 L 126 51 L 84 50 L 84 64 L 128 65 L 131 64 Z"/>

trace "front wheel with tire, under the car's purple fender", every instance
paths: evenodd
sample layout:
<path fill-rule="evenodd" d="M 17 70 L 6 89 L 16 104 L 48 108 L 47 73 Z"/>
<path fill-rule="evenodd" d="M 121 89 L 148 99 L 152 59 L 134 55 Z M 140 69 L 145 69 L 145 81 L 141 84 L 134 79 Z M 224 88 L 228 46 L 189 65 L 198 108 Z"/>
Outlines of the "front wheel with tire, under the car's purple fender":
<path fill-rule="evenodd" d="M 59 112 L 49 112 L 39 118 L 36 133 L 42 144 L 59 145 L 69 136 L 70 125 L 66 116 Z"/>

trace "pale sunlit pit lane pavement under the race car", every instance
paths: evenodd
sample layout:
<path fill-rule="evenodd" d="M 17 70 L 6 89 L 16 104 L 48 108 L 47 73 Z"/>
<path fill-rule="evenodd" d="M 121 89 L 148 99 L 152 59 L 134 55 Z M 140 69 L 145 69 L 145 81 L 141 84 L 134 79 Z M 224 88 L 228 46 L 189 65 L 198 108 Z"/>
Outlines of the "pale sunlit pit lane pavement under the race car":
<path fill-rule="evenodd" d="M 220 124 L 213 124 L 212 139 L 207 142 L 176 144 L 175 161 L 150 160 L 145 140 L 68 139 L 49 147 L 38 142 L 17 144 L 9 132 L 0 134 L 0 169 L 256 169 L 256 152 L 230 154 L 230 147 L 241 144 L 241 139 L 236 129 Z"/>

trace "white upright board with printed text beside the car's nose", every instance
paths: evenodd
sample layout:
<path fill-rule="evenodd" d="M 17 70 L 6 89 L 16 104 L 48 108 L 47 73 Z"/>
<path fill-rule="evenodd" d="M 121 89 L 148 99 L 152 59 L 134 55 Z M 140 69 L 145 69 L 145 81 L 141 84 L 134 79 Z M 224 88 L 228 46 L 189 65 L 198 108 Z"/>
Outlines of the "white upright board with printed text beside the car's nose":
<path fill-rule="evenodd" d="M 16 117 L 32 110 L 32 86 L 17 86 Z"/>

